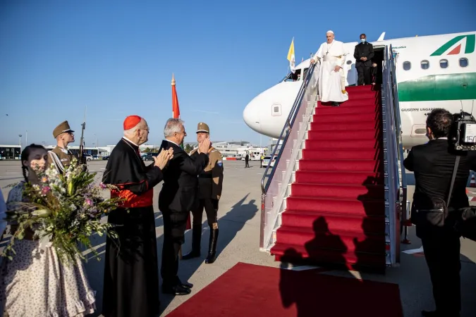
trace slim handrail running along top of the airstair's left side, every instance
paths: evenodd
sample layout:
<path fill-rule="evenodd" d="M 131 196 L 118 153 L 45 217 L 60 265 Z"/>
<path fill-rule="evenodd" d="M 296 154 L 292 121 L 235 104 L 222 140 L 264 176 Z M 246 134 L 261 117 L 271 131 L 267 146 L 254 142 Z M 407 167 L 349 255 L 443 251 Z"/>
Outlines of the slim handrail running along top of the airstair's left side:
<path fill-rule="evenodd" d="M 296 96 L 296 99 L 294 100 L 294 104 L 291 108 L 291 111 L 289 111 L 288 118 L 286 118 L 286 123 L 283 126 L 283 130 L 281 130 L 281 135 L 279 135 L 279 138 L 276 142 L 276 146 L 274 147 L 274 149 L 272 151 L 270 162 L 272 161 L 274 156 L 277 155 L 276 161 L 274 162 L 274 165 L 276 165 L 279 162 L 279 158 L 281 157 L 281 152 L 282 152 L 283 145 L 286 144 L 286 141 L 287 141 L 288 135 L 289 135 L 289 131 L 291 130 L 291 127 L 292 127 L 292 125 L 294 123 L 294 120 L 295 120 L 295 115 L 296 115 L 296 113 L 298 113 L 297 110 L 298 110 L 298 108 L 301 104 L 301 101 L 303 100 L 303 96 L 304 96 L 304 92 L 307 88 L 307 84 L 309 83 L 309 81 L 312 77 L 312 73 L 314 73 L 315 65 L 316 65 L 315 63 L 312 64 L 311 67 L 309 68 L 309 71 L 307 71 L 307 75 L 306 75 L 305 79 L 303 80 L 303 85 L 301 85 L 301 87 L 298 91 L 298 95 Z M 285 135 L 285 133 L 286 133 L 286 135 Z M 281 140 L 282 140 L 282 144 L 280 144 Z M 279 148 L 279 153 L 276 154 L 276 151 L 278 150 L 278 148 Z M 271 175 L 269 175 L 268 181 L 265 185 L 264 180 L 267 178 L 267 173 L 268 173 L 268 170 L 269 170 L 270 166 L 271 166 L 271 163 L 269 163 L 267 168 L 264 170 L 264 174 L 263 174 L 263 177 L 261 179 L 261 192 L 262 192 L 262 194 L 266 194 L 267 187 L 269 187 L 269 182 L 271 182 L 271 180 L 273 178 L 273 175 L 274 175 L 274 168 L 271 168 Z"/>

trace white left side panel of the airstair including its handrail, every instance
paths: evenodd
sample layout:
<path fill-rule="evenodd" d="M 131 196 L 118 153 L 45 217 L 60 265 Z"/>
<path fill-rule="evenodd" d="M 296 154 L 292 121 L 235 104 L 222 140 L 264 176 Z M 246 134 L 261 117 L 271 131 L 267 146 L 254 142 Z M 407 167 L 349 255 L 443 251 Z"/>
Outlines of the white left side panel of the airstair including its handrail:
<path fill-rule="evenodd" d="M 315 69 L 317 68 L 317 73 Z M 316 64 L 313 64 L 307 72 L 303 85 L 301 85 L 298 94 L 295 98 L 288 118 L 283 125 L 281 135 L 277 139 L 276 146 L 271 153 L 272 158 L 276 157 L 273 166 L 268 164 L 264 175 L 261 180 L 262 195 L 261 195 L 261 220 L 260 220 L 260 250 L 269 251 L 269 247 L 273 244 L 273 232 L 274 228 L 278 224 L 279 212 L 284 206 L 284 197 L 286 196 L 286 189 L 288 183 L 291 181 L 293 172 L 289 166 L 289 163 L 294 163 L 299 154 L 298 147 L 300 140 L 305 138 L 305 128 L 307 128 L 307 122 L 310 120 L 312 113 L 312 104 L 317 102 L 317 94 L 314 89 L 317 88 L 317 77 L 319 75 L 319 68 Z M 307 92 L 308 87 L 312 87 L 311 92 Z M 306 104 L 306 107 L 302 107 L 302 104 Z M 301 116 L 300 120 L 296 120 L 298 116 Z M 304 123 L 304 120 L 307 120 Z M 299 122 L 299 125 L 296 123 Z M 304 125 L 305 124 L 305 125 Z M 292 137 L 293 144 L 288 144 L 288 139 Z M 286 155 L 284 155 L 286 154 Z M 286 161 L 283 161 L 283 155 L 286 156 Z M 281 162 L 282 161 L 282 162 Z M 276 170 L 280 170 L 281 174 L 276 174 Z M 279 175 L 279 178 L 276 178 Z M 265 183 L 266 178 L 268 178 Z M 272 186 L 271 186 L 272 185 Z M 282 187 L 285 186 L 285 187 Z M 272 190 L 271 190 L 272 189 Z M 271 193 L 269 192 L 271 190 Z M 272 195 L 271 195 L 272 194 Z M 271 195 L 271 196 L 270 196 Z"/>

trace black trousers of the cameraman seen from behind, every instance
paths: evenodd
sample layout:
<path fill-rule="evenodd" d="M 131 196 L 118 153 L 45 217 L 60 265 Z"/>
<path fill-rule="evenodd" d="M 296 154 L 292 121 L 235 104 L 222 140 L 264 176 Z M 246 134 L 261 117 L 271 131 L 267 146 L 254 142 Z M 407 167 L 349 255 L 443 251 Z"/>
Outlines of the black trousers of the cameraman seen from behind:
<path fill-rule="evenodd" d="M 451 229 L 422 237 L 437 311 L 458 316 L 461 309 L 460 238 Z M 446 316 L 444 315 L 444 316 Z"/>

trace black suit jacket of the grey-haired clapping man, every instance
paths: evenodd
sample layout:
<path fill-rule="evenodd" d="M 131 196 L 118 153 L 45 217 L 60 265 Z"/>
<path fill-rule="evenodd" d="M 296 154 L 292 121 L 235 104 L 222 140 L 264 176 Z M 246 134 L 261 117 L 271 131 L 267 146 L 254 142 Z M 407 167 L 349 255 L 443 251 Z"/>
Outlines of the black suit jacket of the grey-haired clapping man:
<path fill-rule="evenodd" d="M 200 153 L 194 158 L 178 145 L 164 140 L 160 151 L 173 149 L 173 157 L 164 168 L 164 185 L 159 194 L 160 211 L 188 212 L 198 202 L 198 175 L 208 163 L 207 154 Z"/>

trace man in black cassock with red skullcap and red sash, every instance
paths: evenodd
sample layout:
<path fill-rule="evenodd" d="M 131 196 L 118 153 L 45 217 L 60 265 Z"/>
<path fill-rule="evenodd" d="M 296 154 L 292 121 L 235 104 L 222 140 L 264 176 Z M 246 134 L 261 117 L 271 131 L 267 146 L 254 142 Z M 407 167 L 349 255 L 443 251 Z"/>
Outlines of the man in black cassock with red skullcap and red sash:
<path fill-rule="evenodd" d="M 172 150 L 161 151 L 145 166 L 139 146 L 147 142 L 149 127 L 140 116 L 128 116 L 124 136 L 109 156 L 102 182 L 116 185 L 111 197 L 123 203 L 109 213 L 117 240 L 106 240 L 102 314 L 105 317 L 151 317 L 159 313 L 159 274 L 155 235 L 154 186 Z"/>

